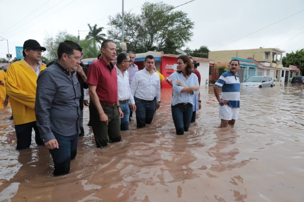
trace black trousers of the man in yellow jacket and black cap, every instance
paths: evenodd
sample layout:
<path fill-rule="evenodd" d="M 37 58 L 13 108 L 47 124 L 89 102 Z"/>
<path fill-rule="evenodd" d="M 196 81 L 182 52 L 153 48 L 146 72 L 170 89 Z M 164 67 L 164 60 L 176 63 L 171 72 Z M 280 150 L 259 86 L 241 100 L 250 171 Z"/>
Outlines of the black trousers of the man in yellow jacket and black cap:
<path fill-rule="evenodd" d="M 20 149 L 28 148 L 30 146 L 32 129 L 34 129 L 35 131 L 36 144 L 44 145 L 42 139 L 40 138 L 40 134 L 36 122 L 33 121 L 25 124 L 15 125 L 15 131 L 17 136 L 16 149 L 20 150 Z"/>

